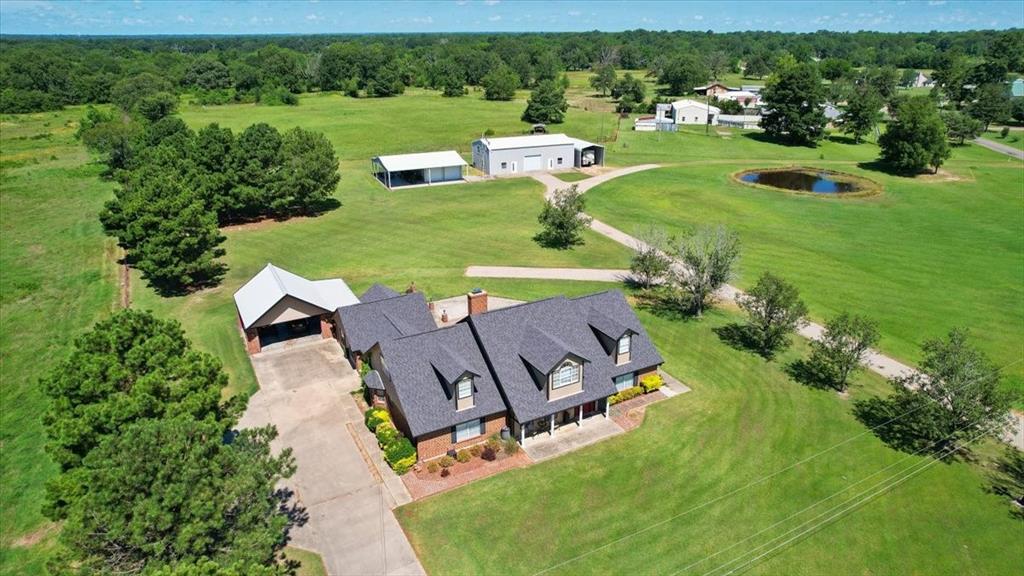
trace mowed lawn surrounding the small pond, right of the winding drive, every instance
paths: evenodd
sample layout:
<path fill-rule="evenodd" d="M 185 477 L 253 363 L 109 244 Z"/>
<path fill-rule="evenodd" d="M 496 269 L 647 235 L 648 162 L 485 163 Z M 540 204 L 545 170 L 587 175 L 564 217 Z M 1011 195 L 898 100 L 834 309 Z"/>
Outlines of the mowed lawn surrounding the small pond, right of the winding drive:
<path fill-rule="evenodd" d="M 632 174 L 587 194 L 595 217 L 633 232 L 655 223 L 675 234 L 722 223 L 742 242 L 739 275 L 751 287 L 764 271 L 796 284 L 815 320 L 847 310 L 874 318 L 880 347 L 908 362 L 922 340 L 966 327 L 1024 393 L 1024 164 L 979 147 L 956 149 L 955 181 L 911 179 L 861 168 L 873 145 L 828 142 L 818 151 L 737 136 L 624 134 L 624 155 L 648 158 L 650 137 L 680 164 Z M 730 155 L 734 143 L 739 155 Z M 684 153 L 722 160 L 687 161 Z M 817 153 L 835 162 L 807 157 Z M 797 159 L 790 160 L 792 156 Z M 631 157 L 631 156 L 630 156 Z M 666 159 L 668 162 L 672 160 Z M 753 188 L 731 174 L 786 161 L 846 170 L 879 181 L 884 194 L 827 199 Z"/>

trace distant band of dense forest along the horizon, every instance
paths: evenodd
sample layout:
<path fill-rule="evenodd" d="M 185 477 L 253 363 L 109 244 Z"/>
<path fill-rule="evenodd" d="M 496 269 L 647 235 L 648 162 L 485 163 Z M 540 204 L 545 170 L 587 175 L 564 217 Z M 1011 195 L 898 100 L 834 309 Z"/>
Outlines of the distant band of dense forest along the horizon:
<path fill-rule="evenodd" d="M 159 77 L 174 93 L 201 104 L 294 104 L 294 94 L 338 90 L 391 96 L 408 86 L 442 90 L 483 86 L 501 70 L 521 88 L 554 80 L 560 71 L 597 65 L 653 71 L 683 81 L 694 58 L 713 63 L 712 76 L 746 69 L 768 73 L 792 56 L 834 58 L 856 68 L 939 68 L 950 54 L 968 60 L 998 55 L 1024 72 L 1024 31 L 1008 32 L 651 32 L 550 34 L 395 34 L 153 38 L 0 39 L 0 112 L 51 110 L 114 101 L 119 84 L 140 74 Z M 494 76 L 492 77 L 494 78 Z M 677 92 L 682 93 L 682 92 Z"/>

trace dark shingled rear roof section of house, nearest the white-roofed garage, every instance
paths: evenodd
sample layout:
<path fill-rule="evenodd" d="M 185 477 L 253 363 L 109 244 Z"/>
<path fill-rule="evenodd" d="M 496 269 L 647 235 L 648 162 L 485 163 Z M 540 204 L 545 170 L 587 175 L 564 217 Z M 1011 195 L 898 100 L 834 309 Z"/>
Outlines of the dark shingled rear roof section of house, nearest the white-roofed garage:
<path fill-rule="evenodd" d="M 365 353 L 378 342 L 434 330 L 437 325 L 421 292 L 338 308 L 349 348 Z"/>

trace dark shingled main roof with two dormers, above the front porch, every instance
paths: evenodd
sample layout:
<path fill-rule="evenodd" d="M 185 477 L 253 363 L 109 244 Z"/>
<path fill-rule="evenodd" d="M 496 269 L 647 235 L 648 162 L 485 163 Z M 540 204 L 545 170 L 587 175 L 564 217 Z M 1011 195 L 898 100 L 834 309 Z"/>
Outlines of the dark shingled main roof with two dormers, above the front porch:
<path fill-rule="evenodd" d="M 558 296 L 471 316 L 464 322 L 473 326 L 509 408 L 520 422 L 615 394 L 612 380 L 616 376 L 664 362 L 617 290 L 571 299 Z M 606 349 L 596 333 L 617 331 L 617 326 L 623 327 L 623 333 L 628 330 L 634 334 L 631 360 L 621 366 L 615 366 L 614 351 Z M 552 354 L 540 352 L 547 345 L 560 349 Z M 563 352 L 585 361 L 583 392 L 549 402 L 547 390 L 537 384 L 527 363 L 548 365 L 553 356 L 561 355 L 561 360 Z"/>

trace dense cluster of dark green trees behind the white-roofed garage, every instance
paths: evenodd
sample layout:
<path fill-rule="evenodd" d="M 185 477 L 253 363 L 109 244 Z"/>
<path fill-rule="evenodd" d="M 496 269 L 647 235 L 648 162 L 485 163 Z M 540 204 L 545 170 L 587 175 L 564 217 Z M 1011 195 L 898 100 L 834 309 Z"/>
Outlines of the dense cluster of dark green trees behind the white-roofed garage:
<path fill-rule="evenodd" d="M 159 84 L 137 88 L 113 112 L 89 108 L 78 135 L 119 184 L 100 213 L 103 229 L 159 292 L 219 281 L 219 227 L 337 206 L 338 159 L 323 134 L 262 123 L 239 134 L 217 124 L 194 131 Z"/>

